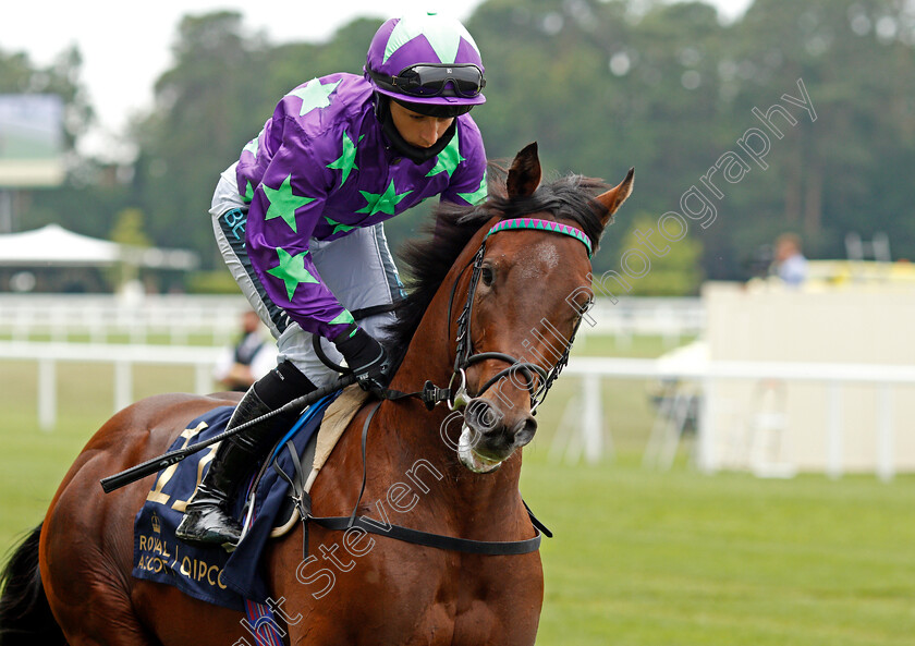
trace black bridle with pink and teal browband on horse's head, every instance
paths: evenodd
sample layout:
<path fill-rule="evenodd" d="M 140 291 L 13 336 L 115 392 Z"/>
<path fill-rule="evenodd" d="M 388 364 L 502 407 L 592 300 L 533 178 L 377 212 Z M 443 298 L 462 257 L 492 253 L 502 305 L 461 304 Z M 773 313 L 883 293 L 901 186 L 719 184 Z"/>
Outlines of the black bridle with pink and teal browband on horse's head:
<path fill-rule="evenodd" d="M 479 249 L 477 249 L 476 254 L 474 254 L 474 257 L 471 260 L 471 264 L 473 265 L 473 272 L 471 273 L 471 284 L 467 288 L 467 300 L 464 303 L 464 308 L 461 310 L 461 315 L 457 317 L 457 338 L 456 352 L 454 357 L 454 371 L 452 373 L 451 381 L 448 385 L 449 395 L 447 400 L 448 406 L 451 410 L 465 407 L 472 399 L 471 395 L 467 393 L 466 369 L 476 363 L 488 359 L 496 359 L 505 362 L 510 365 L 508 368 L 500 370 L 486 383 L 484 383 L 484 386 L 476 393 L 476 397 L 481 395 L 491 386 L 493 386 L 504 377 L 512 375 L 512 373 L 514 371 L 518 371 L 524 376 L 525 388 L 527 389 L 528 394 L 530 397 L 530 413 L 533 415 L 536 415 L 537 406 L 539 406 L 546 399 L 547 392 L 549 391 L 550 387 L 552 387 L 553 381 L 556 381 L 557 377 L 559 377 L 559 374 L 562 371 L 562 368 L 564 368 L 565 365 L 569 363 L 569 353 L 572 349 L 572 342 L 575 340 L 575 333 L 578 331 L 578 326 L 582 322 L 581 317 L 575 324 L 575 329 L 572 331 L 572 338 L 569 339 L 569 343 L 565 345 L 565 350 L 563 351 L 562 356 L 560 356 L 557 364 L 550 370 L 545 370 L 536 364 L 533 364 L 530 362 L 523 362 L 503 352 L 480 352 L 477 354 L 473 353 L 473 340 L 471 339 L 471 317 L 473 313 L 474 296 L 476 295 L 477 285 L 479 284 L 479 277 L 483 272 L 483 260 L 486 256 L 486 241 L 489 240 L 490 235 L 495 235 L 496 233 L 499 233 L 501 231 L 516 231 L 518 229 L 549 231 L 552 233 L 569 235 L 584 244 L 588 251 L 588 258 L 591 257 L 591 243 L 590 240 L 588 240 L 588 236 L 583 231 L 575 229 L 574 227 L 570 227 L 569 224 L 561 224 L 559 222 L 552 222 L 549 220 L 539 220 L 536 218 L 514 218 L 497 222 L 486 233 L 486 236 L 483 239 L 483 243 L 480 243 L 479 245 Z M 468 266 L 471 264 L 468 264 Z M 461 276 L 463 276 L 466 267 L 464 267 L 464 269 L 454 280 L 454 284 L 451 287 L 451 296 L 448 301 L 449 331 L 451 329 L 451 312 L 452 306 L 454 304 L 454 295 L 457 291 L 457 283 L 461 280 Z M 539 386 L 535 380 L 535 374 L 539 378 Z M 456 388 L 454 387 L 455 379 L 460 379 Z"/>

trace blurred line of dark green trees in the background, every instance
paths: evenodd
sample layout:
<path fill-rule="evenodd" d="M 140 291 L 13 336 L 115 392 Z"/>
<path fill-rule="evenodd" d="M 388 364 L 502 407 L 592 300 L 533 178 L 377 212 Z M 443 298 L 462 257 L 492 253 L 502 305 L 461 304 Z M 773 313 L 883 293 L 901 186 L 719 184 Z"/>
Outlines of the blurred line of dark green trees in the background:
<path fill-rule="evenodd" d="M 185 16 L 155 105 L 133 123 L 136 159 L 74 158 L 63 187 L 23 200 L 20 227 L 109 237 L 124 211 L 141 214 L 152 243 L 194 248 L 219 270 L 207 216 L 218 174 L 292 87 L 361 73 L 378 25 L 273 45 L 237 13 Z M 745 279 L 784 231 L 813 258 L 844 257 L 846 233 L 880 231 L 895 257 L 915 257 L 912 0 L 755 0 L 731 24 L 703 2 L 488 0 L 466 26 L 486 64 L 473 115 L 490 158 L 536 139 L 554 173 L 617 182 L 635 167 L 635 193 L 595 257 L 597 272 L 645 252 L 655 269 L 633 293 Z M 93 119 L 80 64 L 76 50 L 51 69 L 0 51 L 0 92 L 64 98 L 71 148 Z M 414 210 L 387 224 L 393 246 L 428 218 Z"/>

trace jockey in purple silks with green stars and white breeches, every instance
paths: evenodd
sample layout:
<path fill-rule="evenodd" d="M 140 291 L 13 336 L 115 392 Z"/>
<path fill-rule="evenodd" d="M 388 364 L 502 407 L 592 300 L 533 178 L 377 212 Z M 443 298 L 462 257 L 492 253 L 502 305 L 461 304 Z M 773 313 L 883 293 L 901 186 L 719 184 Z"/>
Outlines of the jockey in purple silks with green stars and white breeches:
<path fill-rule="evenodd" d="M 248 389 L 229 428 L 338 379 L 313 336 L 330 342 L 327 356 L 345 359 L 363 389 L 388 385 L 379 338 L 394 316 L 356 321 L 351 313 L 403 297 L 383 220 L 434 195 L 459 205 L 486 197 L 486 154 L 467 114 L 485 102 L 484 86 L 479 50 L 460 22 L 389 20 L 363 76 L 331 74 L 286 94 L 221 174 L 210 209 L 219 249 L 279 350 L 279 365 Z M 229 501 L 283 430 L 273 417 L 220 443 L 179 538 L 237 544 Z"/>

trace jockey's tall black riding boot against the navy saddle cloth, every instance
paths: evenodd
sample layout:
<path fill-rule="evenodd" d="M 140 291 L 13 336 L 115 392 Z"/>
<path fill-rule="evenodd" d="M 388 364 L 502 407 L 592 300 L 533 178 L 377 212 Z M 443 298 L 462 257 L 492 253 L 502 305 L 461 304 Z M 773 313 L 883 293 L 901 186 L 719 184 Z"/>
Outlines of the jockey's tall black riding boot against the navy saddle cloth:
<path fill-rule="evenodd" d="M 292 364 L 283 363 L 252 386 L 232 414 L 227 429 L 279 409 L 316 388 Z M 266 401 L 265 401 L 266 400 Z M 213 455 L 209 471 L 187 502 L 175 536 L 191 545 L 239 544 L 241 523 L 229 513 L 244 476 L 273 446 L 278 435 L 288 430 L 294 414 L 273 416 L 223 440 Z"/>

